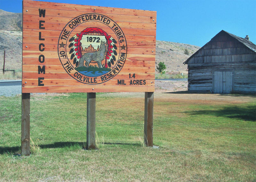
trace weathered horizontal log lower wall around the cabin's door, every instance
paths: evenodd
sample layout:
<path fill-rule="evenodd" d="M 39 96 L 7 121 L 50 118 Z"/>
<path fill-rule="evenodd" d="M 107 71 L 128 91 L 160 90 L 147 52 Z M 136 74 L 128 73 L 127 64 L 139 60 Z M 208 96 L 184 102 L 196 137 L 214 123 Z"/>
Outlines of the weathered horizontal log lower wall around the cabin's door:
<path fill-rule="evenodd" d="M 255 93 L 256 91 L 256 63 L 212 63 L 192 64 L 188 66 L 188 90 L 189 91 L 213 91 L 213 72 L 233 71 L 233 92 Z"/>

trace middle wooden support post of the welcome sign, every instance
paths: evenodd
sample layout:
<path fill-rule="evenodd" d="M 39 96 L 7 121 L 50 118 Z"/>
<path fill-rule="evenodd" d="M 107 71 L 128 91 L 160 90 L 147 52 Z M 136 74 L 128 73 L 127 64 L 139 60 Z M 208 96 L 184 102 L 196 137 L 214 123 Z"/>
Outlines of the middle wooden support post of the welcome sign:
<path fill-rule="evenodd" d="M 87 93 L 86 149 L 96 149 L 95 144 L 96 93 Z"/>

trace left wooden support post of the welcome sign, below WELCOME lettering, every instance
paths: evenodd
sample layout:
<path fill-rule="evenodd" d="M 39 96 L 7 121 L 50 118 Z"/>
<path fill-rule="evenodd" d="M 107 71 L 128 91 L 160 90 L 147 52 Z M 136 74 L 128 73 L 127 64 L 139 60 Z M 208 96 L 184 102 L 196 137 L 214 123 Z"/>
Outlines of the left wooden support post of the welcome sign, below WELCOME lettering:
<path fill-rule="evenodd" d="M 21 94 L 21 155 L 30 155 L 30 93 Z"/>

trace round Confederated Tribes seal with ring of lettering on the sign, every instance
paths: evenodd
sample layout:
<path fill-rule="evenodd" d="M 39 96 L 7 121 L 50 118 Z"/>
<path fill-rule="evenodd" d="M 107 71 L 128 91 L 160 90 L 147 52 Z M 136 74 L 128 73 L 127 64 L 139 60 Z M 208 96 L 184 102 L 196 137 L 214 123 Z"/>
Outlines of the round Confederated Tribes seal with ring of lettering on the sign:
<path fill-rule="evenodd" d="M 123 68 L 127 43 L 112 19 L 97 13 L 80 15 L 63 28 L 58 41 L 60 62 L 84 84 L 101 84 Z"/>

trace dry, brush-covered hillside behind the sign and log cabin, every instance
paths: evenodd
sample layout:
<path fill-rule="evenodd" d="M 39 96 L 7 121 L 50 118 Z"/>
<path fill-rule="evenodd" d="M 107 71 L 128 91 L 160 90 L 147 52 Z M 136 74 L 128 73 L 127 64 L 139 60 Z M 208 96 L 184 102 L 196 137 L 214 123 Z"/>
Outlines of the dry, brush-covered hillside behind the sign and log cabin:
<path fill-rule="evenodd" d="M 4 50 L 5 69 L 21 69 L 22 14 L 0 10 L 0 17 L 0 69 L 3 68 Z M 186 48 L 189 55 L 184 54 Z M 187 65 L 183 65 L 183 62 L 199 48 L 189 44 L 156 40 L 156 65 L 164 62 L 166 72 L 187 73 Z"/>

